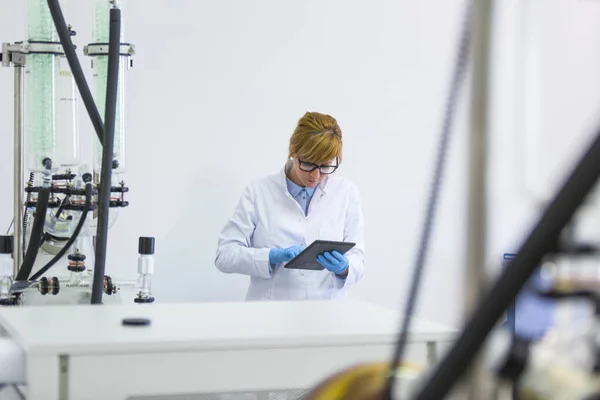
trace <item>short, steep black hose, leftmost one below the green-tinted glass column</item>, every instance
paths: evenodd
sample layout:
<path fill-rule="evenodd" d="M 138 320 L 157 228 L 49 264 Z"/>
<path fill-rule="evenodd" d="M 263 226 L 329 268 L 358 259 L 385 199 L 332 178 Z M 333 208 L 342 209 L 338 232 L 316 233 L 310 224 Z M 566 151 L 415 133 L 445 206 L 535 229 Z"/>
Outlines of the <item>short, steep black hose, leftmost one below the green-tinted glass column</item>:
<path fill-rule="evenodd" d="M 31 236 L 29 237 L 29 245 L 25 252 L 23 264 L 19 268 L 19 272 L 15 277 L 17 281 L 26 281 L 29 279 L 29 274 L 33 269 L 33 264 L 37 259 L 39 243 L 44 235 L 44 224 L 46 222 L 46 211 L 48 210 L 48 200 L 50 199 L 50 175 L 49 171 L 52 168 L 52 161 L 45 162 L 47 172 L 44 175 L 44 182 L 38 194 L 35 217 L 33 218 L 33 226 L 31 227 Z"/>

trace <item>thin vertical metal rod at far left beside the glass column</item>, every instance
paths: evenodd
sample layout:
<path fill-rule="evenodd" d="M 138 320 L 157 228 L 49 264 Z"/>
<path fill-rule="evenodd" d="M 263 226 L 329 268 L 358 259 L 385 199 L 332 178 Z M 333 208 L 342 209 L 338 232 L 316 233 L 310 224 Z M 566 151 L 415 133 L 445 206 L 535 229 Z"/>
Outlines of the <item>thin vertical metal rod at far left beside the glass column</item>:
<path fill-rule="evenodd" d="M 14 250 L 13 278 L 16 278 L 23 261 L 23 66 L 15 64 L 15 143 L 14 143 Z"/>

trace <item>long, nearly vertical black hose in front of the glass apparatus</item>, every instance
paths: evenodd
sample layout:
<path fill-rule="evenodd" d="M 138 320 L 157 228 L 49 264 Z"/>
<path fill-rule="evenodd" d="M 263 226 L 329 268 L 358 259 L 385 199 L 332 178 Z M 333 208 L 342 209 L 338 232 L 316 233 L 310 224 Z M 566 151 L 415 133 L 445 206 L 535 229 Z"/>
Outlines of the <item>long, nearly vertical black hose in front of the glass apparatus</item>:
<path fill-rule="evenodd" d="M 121 10 L 110 10 L 110 32 L 108 43 L 108 77 L 106 83 L 106 115 L 104 117 L 104 147 L 102 148 L 102 171 L 98 196 L 98 231 L 96 233 L 96 263 L 92 283 L 92 304 L 102 304 L 104 271 L 106 267 L 106 245 L 108 237 L 108 215 L 113 164 L 113 145 L 117 114 L 117 91 L 119 88 L 119 50 L 121 46 Z"/>

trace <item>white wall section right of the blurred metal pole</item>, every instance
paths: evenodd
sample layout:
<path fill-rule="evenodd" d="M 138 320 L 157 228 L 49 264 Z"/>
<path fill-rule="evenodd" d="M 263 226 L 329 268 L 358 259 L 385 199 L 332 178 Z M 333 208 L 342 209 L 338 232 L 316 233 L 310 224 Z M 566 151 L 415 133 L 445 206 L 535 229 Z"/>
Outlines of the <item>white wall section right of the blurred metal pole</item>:
<path fill-rule="evenodd" d="M 511 1 L 498 14 L 490 241 L 500 254 L 528 233 L 598 131 L 600 3 Z M 587 214 L 596 232 L 597 210 Z"/>

